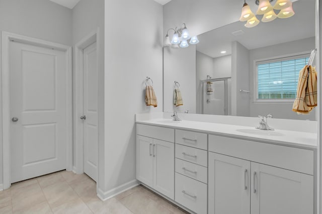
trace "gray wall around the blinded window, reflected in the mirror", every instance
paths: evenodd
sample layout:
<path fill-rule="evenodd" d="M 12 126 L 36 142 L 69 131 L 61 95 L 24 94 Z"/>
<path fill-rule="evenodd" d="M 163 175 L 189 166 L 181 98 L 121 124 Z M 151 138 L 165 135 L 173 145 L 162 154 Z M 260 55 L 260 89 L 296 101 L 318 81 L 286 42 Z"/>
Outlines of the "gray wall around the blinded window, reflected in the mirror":
<path fill-rule="evenodd" d="M 277 56 L 285 56 L 307 52 L 310 53 L 315 47 L 315 38 L 308 38 L 303 40 L 297 40 L 293 42 L 268 46 L 259 49 L 253 49 L 250 51 L 250 89 L 251 89 L 251 100 L 250 109 L 251 116 L 257 117 L 258 115 L 267 115 L 271 113 L 275 118 L 283 119 L 296 119 L 296 120 L 315 120 L 315 109 L 310 112 L 309 115 L 297 115 L 292 111 L 293 102 L 254 102 L 254 61 L 263 60 L 269 58 L 276 58 Z M 315 62 L 313 62 L 314 65 Z"/>

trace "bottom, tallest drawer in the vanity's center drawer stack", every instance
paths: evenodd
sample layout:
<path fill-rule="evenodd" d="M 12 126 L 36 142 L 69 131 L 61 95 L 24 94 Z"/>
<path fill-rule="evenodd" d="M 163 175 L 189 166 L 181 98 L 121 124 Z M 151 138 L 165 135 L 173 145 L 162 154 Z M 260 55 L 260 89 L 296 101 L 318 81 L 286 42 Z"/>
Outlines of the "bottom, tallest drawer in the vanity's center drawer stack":
<path fill-rule="evenodd" d="M 207 184 L 176 173 L 175 200 L 192 211 L 207 213 Z"/>

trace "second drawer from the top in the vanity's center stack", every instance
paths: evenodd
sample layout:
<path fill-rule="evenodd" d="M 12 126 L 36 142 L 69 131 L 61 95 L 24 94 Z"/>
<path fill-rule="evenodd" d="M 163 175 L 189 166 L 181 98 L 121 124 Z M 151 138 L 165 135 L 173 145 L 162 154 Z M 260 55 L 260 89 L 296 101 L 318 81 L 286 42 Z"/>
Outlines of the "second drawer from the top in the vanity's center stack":
<path fill-rule="evenodd" d="M 176 157 L 207 167 L 207 151 L 176 144 Z"/>

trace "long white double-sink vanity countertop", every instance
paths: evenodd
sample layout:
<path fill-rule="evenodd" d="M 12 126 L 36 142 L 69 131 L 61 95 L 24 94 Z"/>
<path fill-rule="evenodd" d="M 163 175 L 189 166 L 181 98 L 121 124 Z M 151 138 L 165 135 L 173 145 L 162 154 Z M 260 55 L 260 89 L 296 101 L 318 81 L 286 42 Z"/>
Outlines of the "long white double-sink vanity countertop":
<path fill-rule="evenodd" d="M 171 119 L 156 118 L 150 120 L 139 120 L 136 123 L 146 125 L 157 125 L 168 128 L 176 128 L 190 131 L 205 132 L 226 137 L 234 137 L 244 140 L 253 140 L 264 143 L 273 143 L 301 147 L 307 149 L 317 148 L 316 133 L 300 132 L 275 129 L 274 131 L 259 130 L 251 126 L 230 125 L 214 122 L 200 121 L 173 121 Z M 237 131 L 239 130 L 239 131 Z M 249 132 L 249 133 L 245 133 Z M 277 136 L 276 136 L 277 135 Z"/>

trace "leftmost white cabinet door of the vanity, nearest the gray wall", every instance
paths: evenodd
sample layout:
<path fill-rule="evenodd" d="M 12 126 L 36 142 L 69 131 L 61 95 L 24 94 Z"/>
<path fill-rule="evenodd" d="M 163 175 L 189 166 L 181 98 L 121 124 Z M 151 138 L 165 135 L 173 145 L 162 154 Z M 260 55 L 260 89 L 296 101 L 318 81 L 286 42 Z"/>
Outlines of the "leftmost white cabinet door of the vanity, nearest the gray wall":
<path fill-rule="evenodd" d="M 153 139 L 136 135 L 136 179 L 153 187 Z"/>

